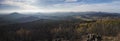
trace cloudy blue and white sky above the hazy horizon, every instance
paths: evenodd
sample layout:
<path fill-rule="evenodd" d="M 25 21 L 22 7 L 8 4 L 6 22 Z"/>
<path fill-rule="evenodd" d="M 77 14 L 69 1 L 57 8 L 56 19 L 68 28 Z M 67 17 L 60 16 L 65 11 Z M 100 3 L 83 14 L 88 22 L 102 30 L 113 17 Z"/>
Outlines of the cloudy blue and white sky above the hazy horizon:
<path fill-rule="evenodd" d="M 0 0 L 0 12 L 116 12 L 120 0 Z"/>

